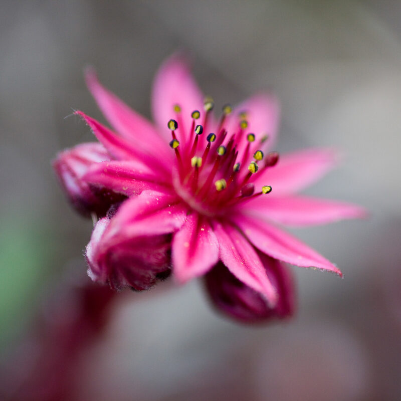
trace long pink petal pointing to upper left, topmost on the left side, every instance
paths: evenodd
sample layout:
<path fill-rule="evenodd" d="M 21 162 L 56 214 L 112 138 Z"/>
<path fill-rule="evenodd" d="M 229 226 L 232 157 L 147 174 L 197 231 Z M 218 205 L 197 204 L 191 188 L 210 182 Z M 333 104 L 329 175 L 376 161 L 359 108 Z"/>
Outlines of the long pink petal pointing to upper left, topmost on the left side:
<path fill-rule="evenodd" d="M 166 142 L 160 137 L 156 128 L 102 86 L 93 68 L 86 70 L 85 78 L 100 110 L 117 132 L 135 141 L 135 146 L 144 153 L 157 153 L 166 159 L 173 158 L 173 154 L 169 152 Z"/>

